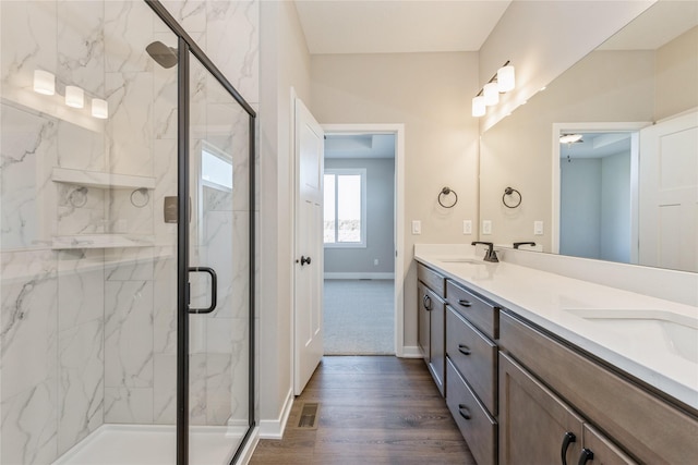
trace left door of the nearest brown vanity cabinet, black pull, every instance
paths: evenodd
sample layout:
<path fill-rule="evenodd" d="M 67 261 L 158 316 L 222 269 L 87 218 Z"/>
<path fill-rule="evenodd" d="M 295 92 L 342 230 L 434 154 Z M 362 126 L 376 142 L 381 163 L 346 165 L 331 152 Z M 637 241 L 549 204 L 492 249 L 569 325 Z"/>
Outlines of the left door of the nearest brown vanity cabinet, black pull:
<path fill-rule="evenodd" d="M 576 464 L 582 419 L 500 353 L 500 464 Z"/>

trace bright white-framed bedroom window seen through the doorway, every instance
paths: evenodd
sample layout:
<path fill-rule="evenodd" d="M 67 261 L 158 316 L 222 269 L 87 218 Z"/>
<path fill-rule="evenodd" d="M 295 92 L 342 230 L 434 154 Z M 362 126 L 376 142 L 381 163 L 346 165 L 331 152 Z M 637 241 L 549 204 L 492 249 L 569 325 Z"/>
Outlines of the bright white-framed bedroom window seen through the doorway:
<path fill-rule="evenodd" d="M 325 170 L 325 247 L 366 246 L 365 168 Z"/>

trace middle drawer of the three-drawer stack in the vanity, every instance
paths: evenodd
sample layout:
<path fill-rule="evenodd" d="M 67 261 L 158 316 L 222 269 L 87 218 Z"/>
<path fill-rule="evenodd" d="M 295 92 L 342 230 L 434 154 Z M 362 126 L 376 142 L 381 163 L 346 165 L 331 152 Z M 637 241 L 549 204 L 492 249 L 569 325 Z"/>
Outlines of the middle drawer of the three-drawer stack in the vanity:
<path fill-rule="evenodd" d="M 488 411 L 497 414 L 497 346 L 446 307 L 446 354 Z"/>

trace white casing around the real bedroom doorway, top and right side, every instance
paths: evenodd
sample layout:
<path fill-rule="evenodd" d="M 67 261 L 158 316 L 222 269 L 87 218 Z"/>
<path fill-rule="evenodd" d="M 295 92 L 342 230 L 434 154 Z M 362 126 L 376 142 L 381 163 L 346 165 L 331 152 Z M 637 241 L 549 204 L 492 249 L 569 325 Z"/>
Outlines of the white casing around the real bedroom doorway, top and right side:
<path fill-rule="evenodd" d="M 405 124 L 322 124 L 327 133 L 395 134 L 395 355 L 405 357 Z"/>

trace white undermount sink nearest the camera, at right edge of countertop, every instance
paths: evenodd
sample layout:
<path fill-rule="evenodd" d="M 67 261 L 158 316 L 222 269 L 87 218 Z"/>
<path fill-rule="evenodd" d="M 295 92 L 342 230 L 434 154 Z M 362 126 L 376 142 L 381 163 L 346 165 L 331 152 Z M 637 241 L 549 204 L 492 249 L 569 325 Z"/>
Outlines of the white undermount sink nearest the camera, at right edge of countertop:
<path fill-rule="evenodd" d="M 698 319 L 665 310 L 568 310 L 605 330 L 633 334 L 643 344 L 698 364 Z"/>

